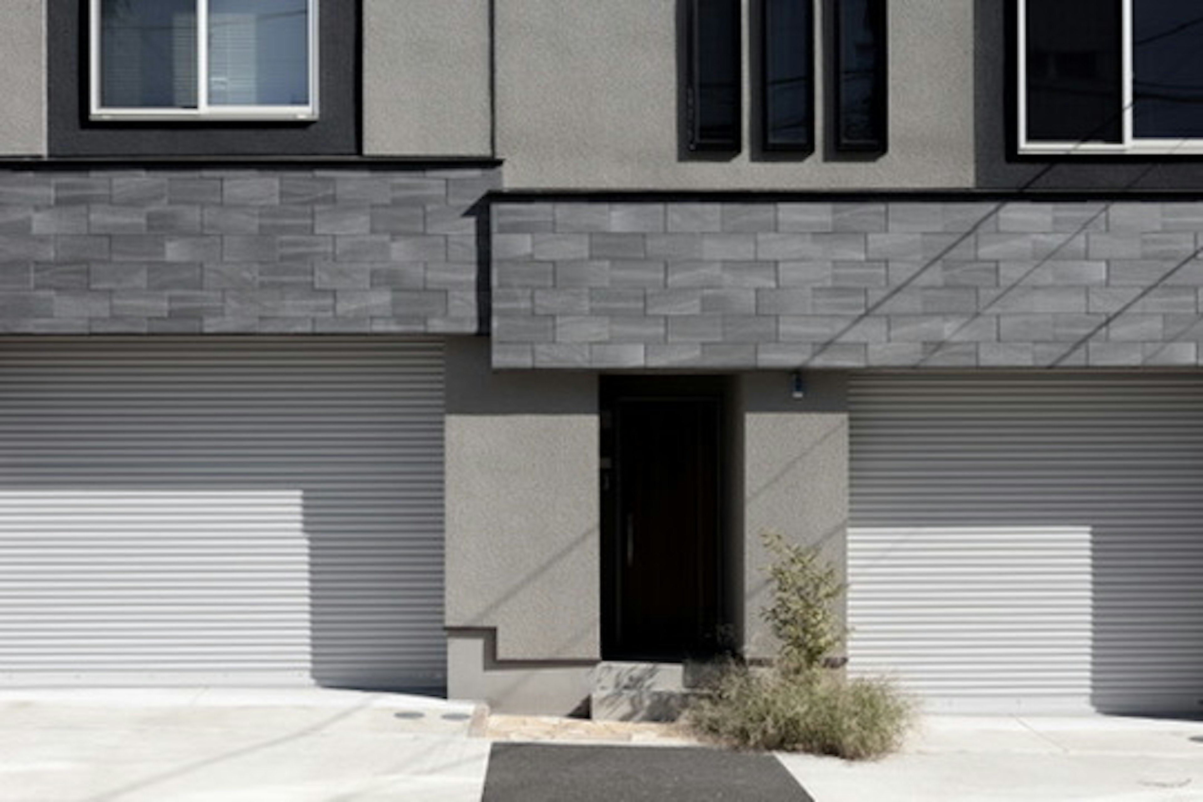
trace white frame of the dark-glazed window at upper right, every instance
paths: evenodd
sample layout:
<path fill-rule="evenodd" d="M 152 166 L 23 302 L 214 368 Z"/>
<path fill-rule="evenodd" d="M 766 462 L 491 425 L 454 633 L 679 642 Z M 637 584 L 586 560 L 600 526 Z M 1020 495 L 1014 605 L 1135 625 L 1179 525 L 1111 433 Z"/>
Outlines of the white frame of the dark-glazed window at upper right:
<path fill-rule="evenodd" d="M 1019 0 L 1018 14 L 1018 66 L 1019 66 L 1019 91 L 1018 113 L 1015 120 L 1019 126 L 1019 153 L 1021 155 L 1042 156 L 1072 156 L 1072 155 L 1121 155 L 1121 156 L 1166 156 L 1203 155 L 1203 137 L 1180 139 L 1137 139 L 1133 136 L 1132 82 L 1134 70 L 1132 66 L 1132 4 L 1137 0 L 1120 0 L 1120 41 L 1121 41 L 1121 76 L 1122 85 L 1121 102 L 1122 118 L 1120 120 L 1120 135 L 1122 142 L 1031 142 L 1027 139 L 1027 4 L 1039 0 Z"/>

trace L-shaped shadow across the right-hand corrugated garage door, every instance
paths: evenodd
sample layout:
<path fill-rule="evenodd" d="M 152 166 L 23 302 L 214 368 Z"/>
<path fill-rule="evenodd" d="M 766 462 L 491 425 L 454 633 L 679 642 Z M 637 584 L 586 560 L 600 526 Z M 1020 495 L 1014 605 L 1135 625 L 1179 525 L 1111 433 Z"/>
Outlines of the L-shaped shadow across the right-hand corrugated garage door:
<path fill-rule="evenodd" d="M 1062 374 L 1044 392 L 1033 375 L 906 381 L 928 384 L 888 402 L 853 384 L 853 527 L 1089 528 L 1091 703 L 1198 714 L 1203 376 Z M 1007 559 L 991 548 L 972 568 Z"/>

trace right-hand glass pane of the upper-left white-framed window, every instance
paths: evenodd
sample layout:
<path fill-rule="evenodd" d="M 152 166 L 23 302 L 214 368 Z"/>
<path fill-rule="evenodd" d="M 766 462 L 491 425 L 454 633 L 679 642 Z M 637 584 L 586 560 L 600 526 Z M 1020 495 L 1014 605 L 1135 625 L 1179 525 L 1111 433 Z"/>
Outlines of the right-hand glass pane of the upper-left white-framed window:
<path fill-rule="evenodd" d="M 209 0 L 209 103 L 309 103 L 307 0 Z"/>

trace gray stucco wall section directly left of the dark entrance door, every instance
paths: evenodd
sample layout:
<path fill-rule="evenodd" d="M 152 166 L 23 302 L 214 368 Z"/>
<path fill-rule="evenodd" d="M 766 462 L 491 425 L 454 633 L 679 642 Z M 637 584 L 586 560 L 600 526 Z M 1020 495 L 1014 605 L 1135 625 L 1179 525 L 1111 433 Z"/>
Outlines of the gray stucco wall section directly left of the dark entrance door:
<path fill-rule="evenodd" d="M 446 625 L 496 629 L 499 660 L 597 659 L 597 376 L 446 355 Z"/>

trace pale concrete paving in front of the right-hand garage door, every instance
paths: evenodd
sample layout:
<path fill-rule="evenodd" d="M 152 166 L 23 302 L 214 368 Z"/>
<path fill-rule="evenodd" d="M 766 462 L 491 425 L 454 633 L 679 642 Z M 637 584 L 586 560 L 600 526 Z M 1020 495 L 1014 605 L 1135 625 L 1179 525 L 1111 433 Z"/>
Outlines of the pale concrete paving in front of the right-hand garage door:
<path fill-rule="evenodd" d="M 1203 721 L 928 717 L 896 755 L 778 755 L 817 802 L 1201 802 Z"/>

